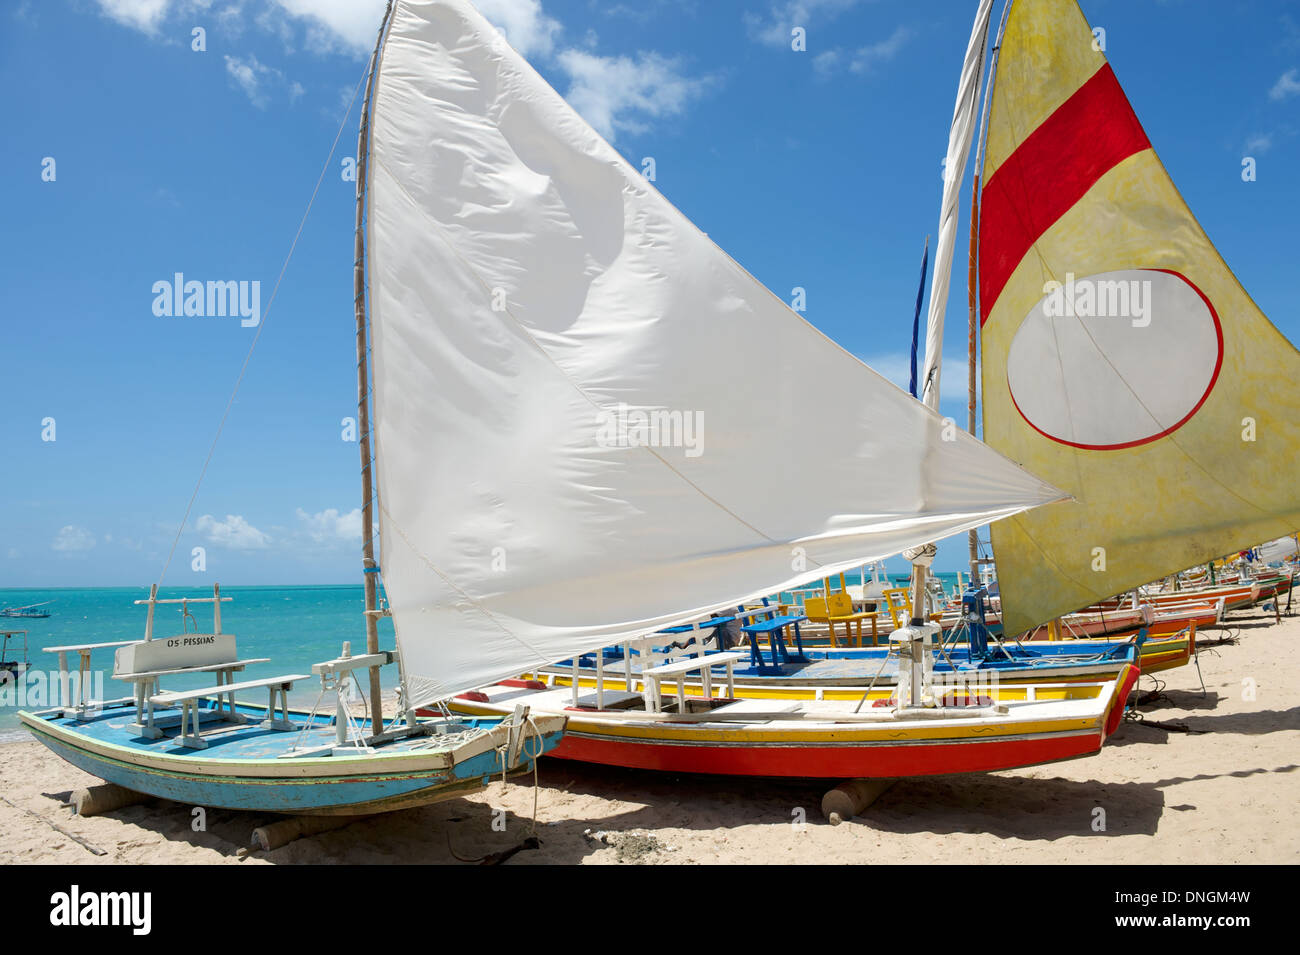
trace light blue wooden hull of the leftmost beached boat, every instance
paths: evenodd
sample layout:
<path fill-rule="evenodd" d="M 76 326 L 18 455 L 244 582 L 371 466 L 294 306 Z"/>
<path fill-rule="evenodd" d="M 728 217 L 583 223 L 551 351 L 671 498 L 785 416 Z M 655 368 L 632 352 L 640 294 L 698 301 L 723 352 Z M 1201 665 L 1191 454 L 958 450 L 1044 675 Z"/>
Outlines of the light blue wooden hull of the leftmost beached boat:
<path fill-rule="evenodd" d="M 256 707 L 239 707 L 261 716 Z M 419 748 L 421 737 L 407 745 L 381 745 L 374 755 L 281 759 L 296 733 L 274 733 L 231 726 L 225 739 L 209 748 L 182 750 L 174 739 L 146 741 L 125 729 L 131 713 L 118 709 L 88 721 L 62 715 L 20 712 L 36 739 L 91 776 L 147 795 L 188 806 L 295 815 L 367 815 L 411 808 L 481 789 L 500 778 L 497 746 L 504 739 L 499 719 L 476 725 L 473 738 Z M 291 713 L 307 721 L 306 713 Z M 528 752 L 552 750 L 560 739 L 563 717 L 537 720 L 541 738 L 529 739 Z M 316 729 L 329 737 L 333 728 Z M 199 755 L 202 754 L 202 755 Z M 525 759 L 516 772 L 532 768 Z"/>

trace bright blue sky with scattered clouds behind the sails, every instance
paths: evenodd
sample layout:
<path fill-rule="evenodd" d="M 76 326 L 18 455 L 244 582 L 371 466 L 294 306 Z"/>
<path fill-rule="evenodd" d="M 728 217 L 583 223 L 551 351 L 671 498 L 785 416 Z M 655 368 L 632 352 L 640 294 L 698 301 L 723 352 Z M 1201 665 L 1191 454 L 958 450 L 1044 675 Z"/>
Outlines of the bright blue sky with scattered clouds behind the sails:
<path fill-rule="evenodd" d="M 974 0 L 484 0 L 759 281 L 906 385 Z M 998 4 L 998 10 L 1001 5 Z M 1175 183 L 1292 340 L 1300 4 L 1086 0 Z M 152 286 L 261 283 L 263 335 L 168 574 L 359 579 L 347 121 L 381 0 L 42 0 L 0 12 L 0 587 L 156 579 L 251 337 Z M 789 26 L 807 52 L 789 48 Z M 205 49 L 195 51 L 194 29 Z M 1242 159 L 1257 179 L 1242 181 Z M 53 159 L 53 181 L 43 179 Z M 963 197 L 965 203 L 965 197 Z M 965 212 L 965 209 L 963 209 Z M 965 242 L 942 409 L 965 422 Z M 47 418 L 53 418 L 55 440 Z M 207 569 L 191 569 L 191 548 Z M 939 569 L 965 563 L 965 542 Z M 902 569 L 902 561 L 894 561 Z"/>

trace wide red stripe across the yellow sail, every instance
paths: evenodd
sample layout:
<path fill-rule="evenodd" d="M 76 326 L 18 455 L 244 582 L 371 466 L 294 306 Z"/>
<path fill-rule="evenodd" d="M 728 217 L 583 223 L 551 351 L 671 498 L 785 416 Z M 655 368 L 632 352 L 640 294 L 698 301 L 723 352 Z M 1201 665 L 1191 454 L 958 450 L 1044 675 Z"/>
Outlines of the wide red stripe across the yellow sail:
<path fill-rule="evenodd" d="M 1150 142 L 1110 64 L 1031 133 L 984 183 L 980 325 L 1035 242 L 1089 188 Z"/>

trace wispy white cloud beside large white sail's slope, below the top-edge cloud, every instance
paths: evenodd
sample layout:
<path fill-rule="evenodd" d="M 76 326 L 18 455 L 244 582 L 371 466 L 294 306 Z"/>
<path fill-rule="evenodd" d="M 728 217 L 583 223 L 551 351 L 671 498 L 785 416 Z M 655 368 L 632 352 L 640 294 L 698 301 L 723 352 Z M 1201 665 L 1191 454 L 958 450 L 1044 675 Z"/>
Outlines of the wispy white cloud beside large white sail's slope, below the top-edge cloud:
<path fill-rule="evenodd" d="M 659 53 L 632 58 L 566 49 L 559 62 L 572 79 L 564 99 L 610 142 L 619 131 L 644 133 L 645 117 L 676 116 L 712 82 L 682 75 L 677 60 Z"/>

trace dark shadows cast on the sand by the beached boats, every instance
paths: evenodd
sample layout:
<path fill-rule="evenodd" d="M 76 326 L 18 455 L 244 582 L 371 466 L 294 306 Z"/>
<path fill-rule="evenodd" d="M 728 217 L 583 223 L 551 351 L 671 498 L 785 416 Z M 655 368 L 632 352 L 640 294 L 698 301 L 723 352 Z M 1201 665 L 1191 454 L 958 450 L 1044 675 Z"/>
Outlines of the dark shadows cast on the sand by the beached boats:
<path fill-rule="evenodd" d="M 1131 729 L 1126 728 L 1126 732 Z M 1031 842 L 1050 842 L 1067 835 L 1150 835 L 1166 809 L 1164 790 L 1169 786 L 1296 769 L 1300 767 L 1113 783 L 1000 774 L 902 780 L 871 807 L 866 819 L 846 825 L 898 834 L 988 833 L 1002 839 Z M 620 861 L 649 860 L 653 856 L 655 861 L 671 863 L 685 858 L 679 855 L 684 847 L 670 851 L 667 843 L 684 839 L 680 833 L 667 837 L 656 835 L 656 832 L 714 833 L 719 819 L 733 820 L 732 825 L 740 826 L 788 825 L 802 817 L 809 825 L 822 826 L 826 824 L 819 806 L 822 794 L 829 787 L 815 781 L 655 776 L 558 761 L 543 763 L 541 783 L 541 819 L 536 833 L 541 847 L 512 855 L 508 864 L 580 863 L 608 848 L 589 834 L 595 830 L 620 834 Z M 512 789 L 524 790 L 525 785 L 512 783 Z M 47 795 L 52 799 L 64 796 Z M 454 799 L 365 819 L 254 855 L 274 864 L 402 861 L 462 865 L 467 864 L 465 860 L 478 860 L 516 847 L 532 834 L 530 798 L 526 791 L 514 791 L 511 796 L 512 803 L 526 804 L 528 809 L 523 813 L 494 809 L 494 799 L 486 803 Z M 624 808 L 612 815 L 584 816 L 575 809 L 590 806 L 585 796 L 616 799 Z M 1104 832 L 1093 829 L 1098 807 L 1105 811 Z M 1195 807 L 1167 808 L 1186 811 Z M 205 830 L 195 832 L 194 811 L 165 800 L 133 806 L 110 815 L 127 826 L 148 829 L 169 841 L 205 847 L 226 856 L 239 855 L 239 850 L 248 846 L 254 828 L 276 819 L 208 809 Z M 569 817 L 566 819 L 566 815 Z M 629 830 L 644 830 L 646 837 L 629 838 L 625 835 Z M 124 837 L 118 846 L 130 845 L 130 837 Z"/>

